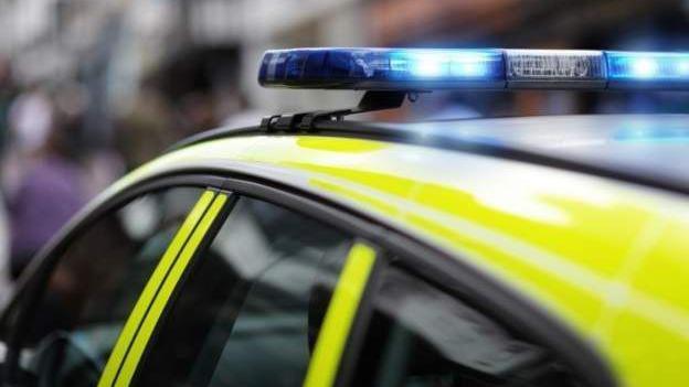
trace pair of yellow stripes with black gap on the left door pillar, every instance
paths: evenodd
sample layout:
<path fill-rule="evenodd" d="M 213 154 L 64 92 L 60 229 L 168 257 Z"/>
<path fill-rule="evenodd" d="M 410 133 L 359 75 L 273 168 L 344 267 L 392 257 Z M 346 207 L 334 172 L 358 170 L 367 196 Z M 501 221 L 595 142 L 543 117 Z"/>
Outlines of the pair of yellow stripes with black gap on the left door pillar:
<path fill-rule="evenodd" d="M 129 385 L 172 290 L 226 202 L 227 195 L 206 191 L 191 209 L 129 314 L 98 387 Z"/>

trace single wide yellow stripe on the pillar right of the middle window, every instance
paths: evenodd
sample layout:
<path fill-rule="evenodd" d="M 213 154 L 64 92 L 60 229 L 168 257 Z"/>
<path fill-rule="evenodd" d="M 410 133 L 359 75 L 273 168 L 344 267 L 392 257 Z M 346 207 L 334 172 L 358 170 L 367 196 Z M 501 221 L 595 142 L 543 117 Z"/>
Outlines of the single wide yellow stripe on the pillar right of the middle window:
<path fill-rule="evenodd" d="M 335 381 L 349 330 L 374 261 L 375 250 L 364 244 L 357 243 L 349 251 L 318 334 L 304 380 L 305 387 L 327 387 Z"/>

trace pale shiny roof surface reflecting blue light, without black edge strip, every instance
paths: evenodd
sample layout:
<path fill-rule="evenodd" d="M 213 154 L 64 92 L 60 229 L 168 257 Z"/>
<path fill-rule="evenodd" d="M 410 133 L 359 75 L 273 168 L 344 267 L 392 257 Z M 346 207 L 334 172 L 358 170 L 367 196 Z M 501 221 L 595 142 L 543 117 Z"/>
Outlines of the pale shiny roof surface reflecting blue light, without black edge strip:
<path fill-rule="evenodd" d="M 589 115 L 401 123 L 689 186 L 689 115 Z"/>

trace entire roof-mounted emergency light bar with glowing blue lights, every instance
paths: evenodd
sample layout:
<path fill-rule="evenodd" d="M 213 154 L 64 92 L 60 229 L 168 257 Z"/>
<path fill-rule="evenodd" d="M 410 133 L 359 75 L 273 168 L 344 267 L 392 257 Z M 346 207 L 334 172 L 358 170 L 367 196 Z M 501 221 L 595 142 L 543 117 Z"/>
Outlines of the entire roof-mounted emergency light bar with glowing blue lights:
<path fill-rule="evenodd" d="M 574 50 L 267 51 L 266 87 L 362 90 L 689 89 L 689 54 Z"/>

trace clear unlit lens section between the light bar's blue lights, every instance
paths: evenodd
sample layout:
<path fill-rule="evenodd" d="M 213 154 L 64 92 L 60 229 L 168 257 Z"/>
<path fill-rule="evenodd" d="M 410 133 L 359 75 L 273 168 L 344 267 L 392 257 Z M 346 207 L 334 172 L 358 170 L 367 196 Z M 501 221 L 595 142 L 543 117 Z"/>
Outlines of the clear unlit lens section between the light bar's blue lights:
<path fill-rule="evenodd" d="M 507 80 L 604 80 L 600 51 L 507 50 Z"/>

